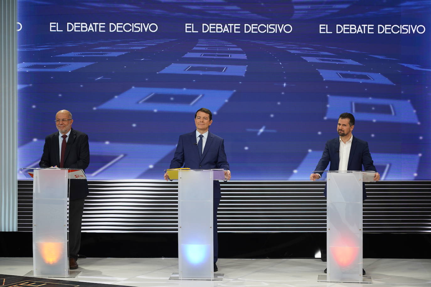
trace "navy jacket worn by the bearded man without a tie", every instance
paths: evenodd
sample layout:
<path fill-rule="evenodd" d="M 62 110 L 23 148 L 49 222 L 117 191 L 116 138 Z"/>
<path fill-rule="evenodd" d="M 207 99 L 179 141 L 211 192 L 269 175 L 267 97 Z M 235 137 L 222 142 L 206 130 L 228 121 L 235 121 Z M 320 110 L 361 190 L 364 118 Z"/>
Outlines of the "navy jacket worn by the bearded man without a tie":
<path fill-rule="evenodd" d="M 322 158 L 319 160 L 315 170 L 325 170 L 329 162 L 331 162 L 329 170 L 338 170 L 340 164 L 340 137 L 330 139 L 326 142 Z M 371 158 L 368 142 L 353 137 L 347 170 L 362 170 L 362 166 L 364 167 L 363 170 L 377 171 Z M 319 174 L 322 175 L 322 173 Z M 324 195 L 326 196 L 326 187 Z M 365 184 L 362 184 L 362 197 L 364 200 L 367 198 Z"/>

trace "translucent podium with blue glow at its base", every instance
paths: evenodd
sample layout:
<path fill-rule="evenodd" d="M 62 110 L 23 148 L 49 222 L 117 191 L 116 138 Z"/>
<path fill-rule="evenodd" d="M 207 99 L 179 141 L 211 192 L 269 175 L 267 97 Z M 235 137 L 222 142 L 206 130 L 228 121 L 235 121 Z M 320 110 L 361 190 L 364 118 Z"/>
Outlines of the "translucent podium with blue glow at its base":
<path fill-rule="evenodd" d="M 213 181 L 223 170 L 167 170 L 178 179 L 178 273 L 170 280 L 223 280 L 214 273 Z"/>

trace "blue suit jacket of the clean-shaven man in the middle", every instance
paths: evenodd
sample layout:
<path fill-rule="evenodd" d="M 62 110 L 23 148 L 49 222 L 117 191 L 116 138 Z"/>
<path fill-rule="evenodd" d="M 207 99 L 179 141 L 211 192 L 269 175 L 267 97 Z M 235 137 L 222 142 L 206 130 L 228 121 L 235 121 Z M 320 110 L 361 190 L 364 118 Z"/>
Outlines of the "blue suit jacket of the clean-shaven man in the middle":
<path fill-rule="evenodd" d="M 191 169 L 222 168 L 229 170 L 224 140 L 208 132 L 208 138 L 202 152 L 202 160 L 199 160 L 196 130 L 181 135 L 169 168 L 180 168 L 183 167 L 183 164 L 184 167 Z M 220 198 L 220 182 L 217 180 L 214 181 L 214 198 Z"/>

